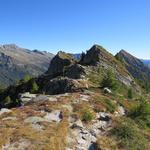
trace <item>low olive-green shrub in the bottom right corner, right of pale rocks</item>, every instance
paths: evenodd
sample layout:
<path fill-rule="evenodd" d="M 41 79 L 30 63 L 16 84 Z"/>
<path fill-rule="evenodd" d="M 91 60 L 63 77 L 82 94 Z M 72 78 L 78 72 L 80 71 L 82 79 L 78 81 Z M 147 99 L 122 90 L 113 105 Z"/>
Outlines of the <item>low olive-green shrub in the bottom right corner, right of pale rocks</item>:
<path fill-rule="evenodd" d="M 127 150 L 145 150 L 148 145 L 142 132 L 129 118 L 119 121 L 111 130 L 111 134 L 120 141 L 119 146 Z"/>

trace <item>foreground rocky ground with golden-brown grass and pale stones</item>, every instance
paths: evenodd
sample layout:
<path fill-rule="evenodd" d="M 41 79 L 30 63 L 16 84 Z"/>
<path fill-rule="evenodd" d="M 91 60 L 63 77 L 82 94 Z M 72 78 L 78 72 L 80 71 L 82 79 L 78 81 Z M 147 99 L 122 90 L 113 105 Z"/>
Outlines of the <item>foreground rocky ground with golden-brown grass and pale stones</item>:
<path fill-rule="evenodd" d="M 96 94 L 105 97 L 91 91 L 53 96 L 22 94 L 21 107 L 0 111 L 1 149 L 97 150 L 97 139 L 111 129 L 112 118 L 125 112 L 118 105 L 113 114 L 109 113 L 95 103 Z M 95 111 L 98 106 L 101 109 Z M 90 121 L 83 118 L 85 110 L 92 112 Z"/>

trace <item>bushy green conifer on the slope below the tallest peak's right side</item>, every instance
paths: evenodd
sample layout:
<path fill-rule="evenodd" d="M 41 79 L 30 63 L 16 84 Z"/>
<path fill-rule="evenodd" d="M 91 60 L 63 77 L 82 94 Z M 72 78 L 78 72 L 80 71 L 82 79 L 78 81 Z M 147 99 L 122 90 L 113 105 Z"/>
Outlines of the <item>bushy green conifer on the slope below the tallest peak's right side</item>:
<path fill-rule="evenodd" d="M 102 82 L 100 83 L 102 88 L 108 87 L 110 89 L 116 89 L 117 88 L 117 81 L 115 79 L 115 75 L 112 72 L 112 70 L 108 70 L 106 75 L 104 75 Z"/>

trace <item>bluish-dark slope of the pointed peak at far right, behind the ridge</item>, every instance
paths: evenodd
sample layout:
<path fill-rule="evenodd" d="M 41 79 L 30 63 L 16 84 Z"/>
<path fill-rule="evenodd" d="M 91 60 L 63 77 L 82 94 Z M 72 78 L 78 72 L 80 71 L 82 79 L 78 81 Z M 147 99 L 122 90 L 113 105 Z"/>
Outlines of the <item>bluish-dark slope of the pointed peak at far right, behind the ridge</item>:
<path fill-rule="evenodd" d="M 126 69 L 134 78 L 141 81 L 150 80 L 150 69 L 144 65 L 140 59 L 132 56 L 124 50 L 121 50 L 116 57 L 122 61 Z"/>

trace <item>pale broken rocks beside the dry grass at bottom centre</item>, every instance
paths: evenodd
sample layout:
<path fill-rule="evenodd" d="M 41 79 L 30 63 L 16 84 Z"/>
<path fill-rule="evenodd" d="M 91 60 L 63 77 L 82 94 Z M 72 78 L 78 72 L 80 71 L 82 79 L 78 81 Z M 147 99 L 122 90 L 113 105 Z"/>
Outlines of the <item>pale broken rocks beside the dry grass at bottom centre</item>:
<path fill-rule="evenodd" d="M 70 122 L 71 137 L 73 140 L 68 142 L 75 143 L 75 148 L 78 150 L 97 150 L 97 138 L 106 132 L 111 126 L 112 120 L 109 114 L 99 112 L 96 118 L 92 120 L 92 124 L 87 127 L 81 120 Z M 69 139 L 68 138 L 68 139 Z M 69 147 L 70 148 L 70 147 Z"/>

